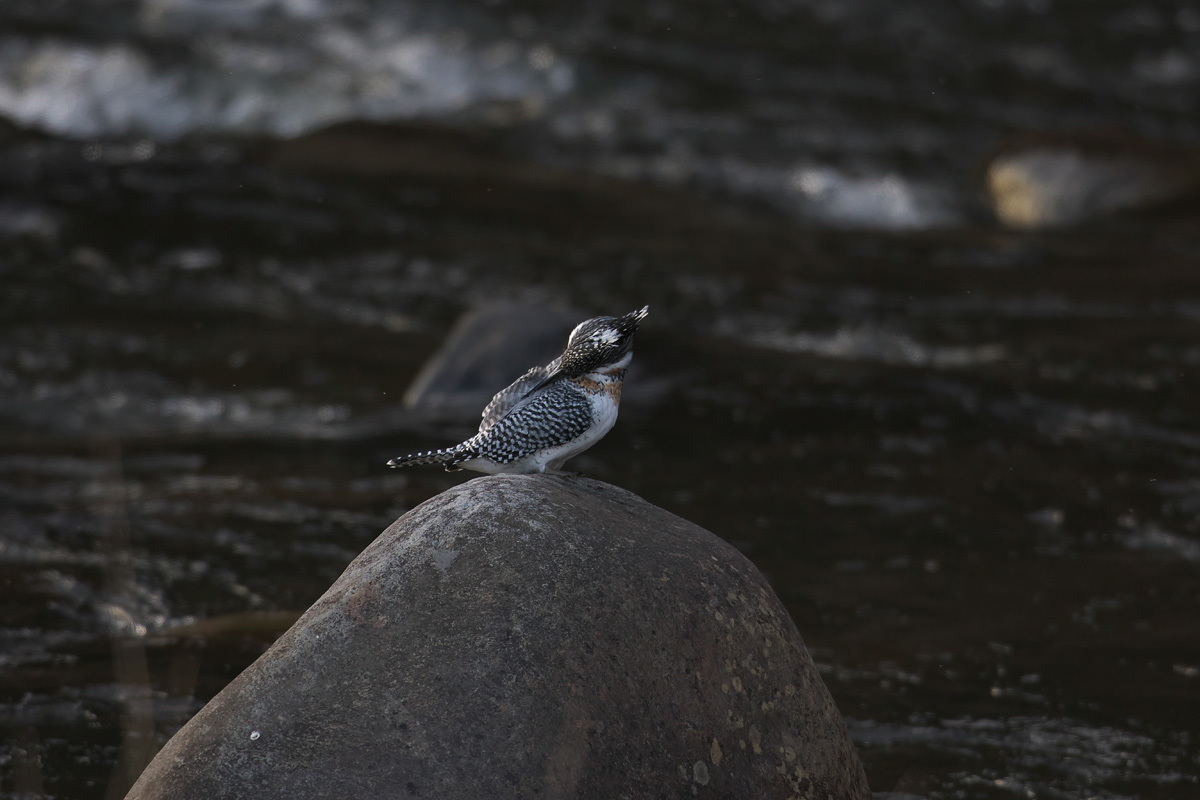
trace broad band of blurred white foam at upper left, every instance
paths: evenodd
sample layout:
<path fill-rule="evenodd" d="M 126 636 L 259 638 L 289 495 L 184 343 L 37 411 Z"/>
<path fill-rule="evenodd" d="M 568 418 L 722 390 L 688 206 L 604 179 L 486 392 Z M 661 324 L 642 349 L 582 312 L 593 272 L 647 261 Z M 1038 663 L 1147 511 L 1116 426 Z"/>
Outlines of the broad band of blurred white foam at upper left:
<path fill-rule="evenodd" d="M 389 11 L 372 19 L 320 2 L 146 2 L 138 40 L 2 36 L 0 115 L 76 138 L 288 137 L 491 103 L 538 113 L 574 83 L 571 65 L 544 43 Z M 172 60 L 151 52 L 161 48 Z"/>

